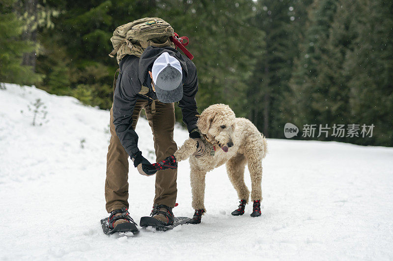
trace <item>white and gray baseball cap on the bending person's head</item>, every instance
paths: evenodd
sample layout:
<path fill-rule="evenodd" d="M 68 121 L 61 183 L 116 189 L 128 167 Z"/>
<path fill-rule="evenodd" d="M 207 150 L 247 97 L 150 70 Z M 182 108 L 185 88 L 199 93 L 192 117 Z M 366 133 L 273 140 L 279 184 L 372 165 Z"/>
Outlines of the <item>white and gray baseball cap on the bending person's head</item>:
<path fill-rule="evenodd" d="M 151 70 L 157 98 L 164 103 L 177 102 L 183 97 L 182 69 L 180 62 L 168 52 L 163 52 Z"/>

